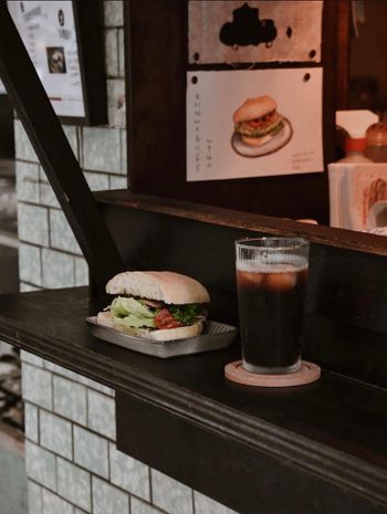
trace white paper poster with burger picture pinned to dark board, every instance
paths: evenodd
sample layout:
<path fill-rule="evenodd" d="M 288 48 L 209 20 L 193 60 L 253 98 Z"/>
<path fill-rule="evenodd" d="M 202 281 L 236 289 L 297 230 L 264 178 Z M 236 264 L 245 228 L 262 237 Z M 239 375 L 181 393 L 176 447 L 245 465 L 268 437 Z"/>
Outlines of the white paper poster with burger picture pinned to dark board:
<path fill-rule="evenodd" d="M 322 67 L 187 73 L 187 180 L 324 170 Z"/>

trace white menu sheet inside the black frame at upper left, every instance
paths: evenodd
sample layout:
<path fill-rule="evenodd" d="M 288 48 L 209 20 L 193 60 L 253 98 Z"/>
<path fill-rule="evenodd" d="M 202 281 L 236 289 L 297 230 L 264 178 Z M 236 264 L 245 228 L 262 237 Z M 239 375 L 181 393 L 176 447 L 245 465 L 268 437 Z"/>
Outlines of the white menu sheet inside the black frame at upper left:
<path fill-rule="evenodd" d="M 55 113 L 84 117 L 72 1 L 9 1 L 8 8 Z"/>

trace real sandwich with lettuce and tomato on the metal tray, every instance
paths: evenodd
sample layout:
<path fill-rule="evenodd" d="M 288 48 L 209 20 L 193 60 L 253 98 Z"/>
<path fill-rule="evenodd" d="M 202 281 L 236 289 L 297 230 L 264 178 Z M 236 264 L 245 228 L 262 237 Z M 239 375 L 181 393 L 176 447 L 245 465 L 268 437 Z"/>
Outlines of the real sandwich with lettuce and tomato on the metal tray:
<path fill-rule="evenodd" d="M 154 340 L 202 333 L 208 291 L 198 281 L 170 271 L 134 271 L 115 275 L 106 293 L 116 295 L 97 314 L 97 323 Z"/>

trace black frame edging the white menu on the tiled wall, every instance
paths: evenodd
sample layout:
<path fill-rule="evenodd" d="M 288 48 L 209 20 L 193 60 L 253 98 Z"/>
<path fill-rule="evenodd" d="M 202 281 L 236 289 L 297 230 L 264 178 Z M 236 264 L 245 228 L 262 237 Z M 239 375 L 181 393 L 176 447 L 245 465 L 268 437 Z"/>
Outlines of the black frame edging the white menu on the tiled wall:
<path fill-rule="evenodd" d="M 42 1 L 43 3 L 45 2 Z M 65 125 L 105 125 L 107 123 L 107 92 L 103 40 L 103 1 L 72 0 L 72 7 L 85 114 L 84 116 L 57 116 Z"/>

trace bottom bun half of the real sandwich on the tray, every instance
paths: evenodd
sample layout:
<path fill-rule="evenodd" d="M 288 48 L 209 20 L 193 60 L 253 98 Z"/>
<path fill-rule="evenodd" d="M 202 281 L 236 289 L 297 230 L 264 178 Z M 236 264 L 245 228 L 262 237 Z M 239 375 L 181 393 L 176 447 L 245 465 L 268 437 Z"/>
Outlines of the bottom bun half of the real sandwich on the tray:
<path fill-rule="evenodd" d="M 203 323 L 197 322 L 195 325 L 180 326 L 178 328 L 161 328 L 159 331 L 150 331 L 148 328 L 130 328 L 115 323 L 109 311 L 104 311 L 97 314 L 97 324 L 114 328 L 132 336 L 145 337 L 151 340 L 176 340 L 187 337 L 199 336 L 203 331 Z"/>

